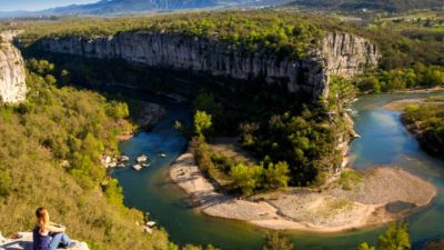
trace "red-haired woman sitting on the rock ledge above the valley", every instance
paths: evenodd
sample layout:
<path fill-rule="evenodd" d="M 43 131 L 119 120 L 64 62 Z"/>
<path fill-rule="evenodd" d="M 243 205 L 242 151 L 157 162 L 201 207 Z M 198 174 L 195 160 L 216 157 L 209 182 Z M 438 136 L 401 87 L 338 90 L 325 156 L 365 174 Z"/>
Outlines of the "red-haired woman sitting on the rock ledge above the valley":
<path fill-rule="evenodd" d="M 64 233 L 64 227 L 52 223 L 44 208 L 36 210 L 37 223 L 33 230 L 33 250 L 56 250 L 59 247 L 72 248 L 74 242 Z"/>

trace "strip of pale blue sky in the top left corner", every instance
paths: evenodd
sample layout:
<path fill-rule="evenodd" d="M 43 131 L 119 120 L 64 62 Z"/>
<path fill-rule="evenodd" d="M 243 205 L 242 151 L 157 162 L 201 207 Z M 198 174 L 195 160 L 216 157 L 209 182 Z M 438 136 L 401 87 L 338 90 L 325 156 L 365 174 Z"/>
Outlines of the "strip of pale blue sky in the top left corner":
<path fill-rule="evenodd" d="M 0 11 L 42 10 L 52 7 L 98 2 L 99 0 L 0 0 Z"/>

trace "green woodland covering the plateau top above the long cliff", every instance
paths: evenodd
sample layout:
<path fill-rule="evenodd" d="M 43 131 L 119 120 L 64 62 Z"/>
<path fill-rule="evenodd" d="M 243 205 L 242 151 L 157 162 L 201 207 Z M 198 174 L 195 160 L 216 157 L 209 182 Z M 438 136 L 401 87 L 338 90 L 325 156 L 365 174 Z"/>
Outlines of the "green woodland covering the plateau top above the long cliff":
<path fill-rule="evenodd" d="M 232 49 L 268 51 L 281 57 L 305 57 L 331 21 L 280 12 L 198 12 L 150 18 L 90 19 L 26 23 L 24 43 L 40 38 L 91 38 L 124 31 L 171 32 L 220 40 Z"/>

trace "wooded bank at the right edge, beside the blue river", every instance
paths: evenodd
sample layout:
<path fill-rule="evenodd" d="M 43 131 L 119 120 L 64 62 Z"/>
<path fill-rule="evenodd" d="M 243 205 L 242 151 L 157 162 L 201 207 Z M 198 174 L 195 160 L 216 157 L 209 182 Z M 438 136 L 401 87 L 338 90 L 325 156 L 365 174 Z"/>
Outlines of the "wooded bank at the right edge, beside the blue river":
<path fill-rule="evenodd" d="M 427 152 L 444 156 L 444 98 L 407 106 L 402 120 Z"/>

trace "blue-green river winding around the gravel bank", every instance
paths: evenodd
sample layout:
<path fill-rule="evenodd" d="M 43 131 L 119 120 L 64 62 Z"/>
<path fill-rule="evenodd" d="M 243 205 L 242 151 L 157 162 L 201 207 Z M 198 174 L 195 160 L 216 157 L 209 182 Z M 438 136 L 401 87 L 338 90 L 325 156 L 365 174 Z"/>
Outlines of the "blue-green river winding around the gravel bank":
<path fill-rule="evenodd" d="M 131 168 L 115 170 L 113 176 L 123 187 L 124 201 L 129 207 L 150 212 L 153 220 L 167 229 L 176 243 L 212 243 L 223 250 L 261 249 L 266 230 L 244 222 L 204 216 L 191 208 L 188 197 L 168 178 L 168 168 L 182 153 L 188 141 L 172 128 L 180 119 L 190 123 L 189 107 L 149 93 L 128 90 L 132 98 L 163 104 L 168 118 L 150 132 L 140 132 L 120 144 L 122 153 L 132 160 L 145 153 L 152 163 L 140 172 Z M 408 217 L 414 248 L 425 241 L 444 238 L 444 162 L 425 154 L 417 141 L 400 122 L 400 113 L 382 107 L 393 100 L 417 98 L 435 93 L 396 93 L 366 96 L 353 103 L 357 114 L 353 118 L 355 129 L 362 137 L 351 143 L 352 167 L 401 167 L 431 181 L 438 189 L 433 203 Z M 161 158 L 164 152 L 167 158 Z M 384 228 L 359 230 L 334 234 L 284 232 L 303 250 L 355 250 L 360 242 L 375 243 Z"/>

